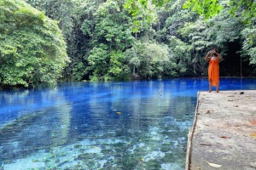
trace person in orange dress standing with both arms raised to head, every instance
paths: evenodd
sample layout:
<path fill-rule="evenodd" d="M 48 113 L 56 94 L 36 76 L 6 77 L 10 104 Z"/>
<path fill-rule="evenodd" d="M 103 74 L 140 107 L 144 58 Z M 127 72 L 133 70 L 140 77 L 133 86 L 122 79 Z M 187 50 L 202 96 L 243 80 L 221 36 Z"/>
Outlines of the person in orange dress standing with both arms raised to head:
<path fill-rule="evenodd" d="M 219 66 L 218 62 L 222 59 L 221 54 L 218 54 L 216 48 L 212 48 L 206 55 L 205 59 L 209 61 L 208 67 L 208 81 L 209 81 L 209 93 L 212 92 L 212 86 L 216 87 L 216 93 L 219 88 Z"/>

